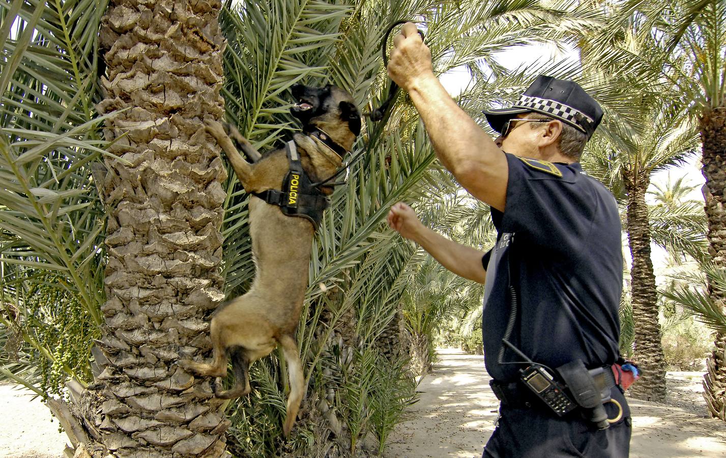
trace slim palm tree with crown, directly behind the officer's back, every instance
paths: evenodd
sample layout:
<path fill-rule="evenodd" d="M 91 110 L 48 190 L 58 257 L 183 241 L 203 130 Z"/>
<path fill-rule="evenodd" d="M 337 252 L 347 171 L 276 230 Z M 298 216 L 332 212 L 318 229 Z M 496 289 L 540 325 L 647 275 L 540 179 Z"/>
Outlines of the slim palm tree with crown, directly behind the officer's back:
<path fill-rule="evenodd" d="M 594 67 L 587 59 L 589 57 L 585 57 L 584 67 L 587 69 L 588 64 Z M 610 183 L 614 192 L 621 189 L 624 194 L 624 229 L 632 255 L 633 357 L 643 369 L 642 379 L 632 386 L 631 392 L 633 396 L 650 400 L 662 400 L 666 396 L 666 366 L 658 324 L 656 277 L 650 255 L 651 218 L 645 195 L 653 172 L 682 162 L 698 144 L 696 131 L 686 122 L 683 108 L 661 97 L 643 93 L 636 102 L 643 109 L 639 116 L 609 123 L 608 136 L 590 142 L 584 160 L 588 171 L 607 175 L 603 181 Z"/>

